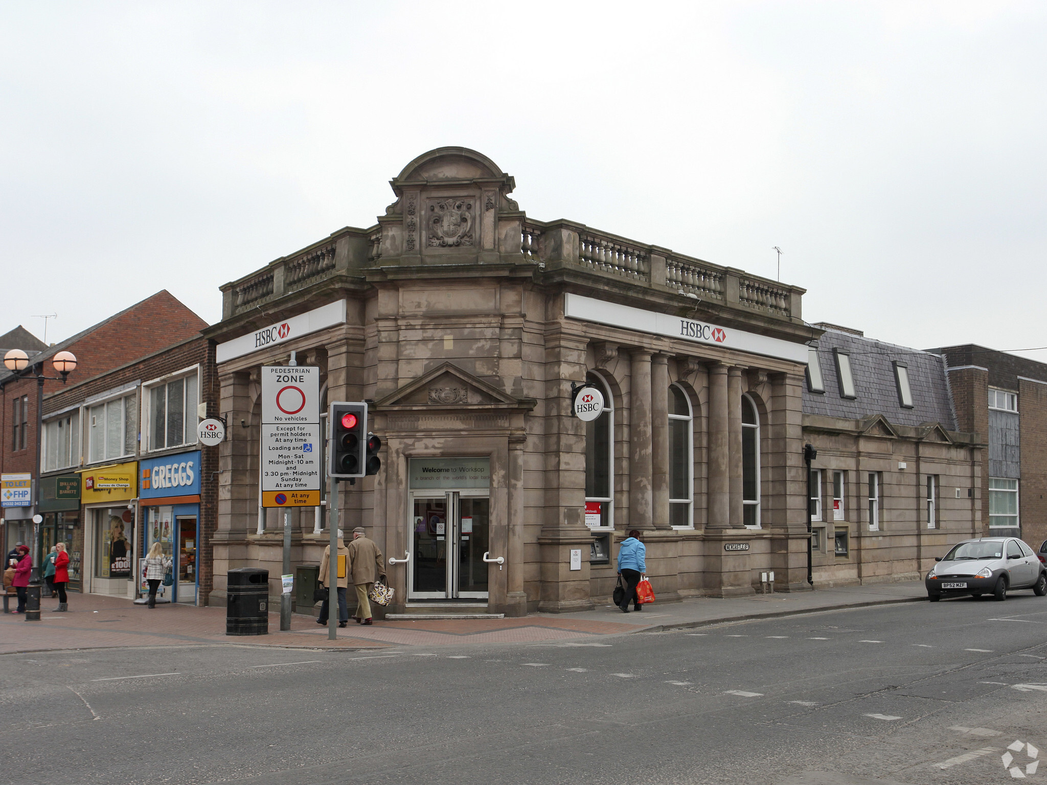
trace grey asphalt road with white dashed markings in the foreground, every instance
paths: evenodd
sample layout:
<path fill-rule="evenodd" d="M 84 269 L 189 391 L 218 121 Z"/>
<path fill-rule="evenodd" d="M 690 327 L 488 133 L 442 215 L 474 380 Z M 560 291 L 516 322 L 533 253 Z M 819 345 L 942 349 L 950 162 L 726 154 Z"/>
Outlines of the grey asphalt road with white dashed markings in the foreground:
<path fill-rule="evenodd" d="M 584 644 L 12 654 L 0 781 L 1002 783 L 1008 745 L 1022 773 L 1047 748 L 1045 642 L 1019 592 Z"/>

